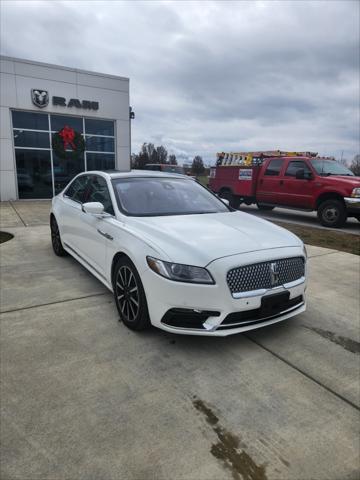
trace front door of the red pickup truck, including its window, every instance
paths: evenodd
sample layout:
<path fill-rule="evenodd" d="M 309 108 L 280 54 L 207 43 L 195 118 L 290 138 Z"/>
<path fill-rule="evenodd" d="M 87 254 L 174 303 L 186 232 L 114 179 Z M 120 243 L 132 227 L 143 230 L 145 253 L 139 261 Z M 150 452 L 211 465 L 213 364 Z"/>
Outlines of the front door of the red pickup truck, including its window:
<path fill-rule="evenodd" d="M 304 178 L 296 178 L 299 170 Z M 305 160 L 289 160 L 280 178 L 281 204 L 296 208 L 311 208 L 314 193 L 313 174 Z"/>

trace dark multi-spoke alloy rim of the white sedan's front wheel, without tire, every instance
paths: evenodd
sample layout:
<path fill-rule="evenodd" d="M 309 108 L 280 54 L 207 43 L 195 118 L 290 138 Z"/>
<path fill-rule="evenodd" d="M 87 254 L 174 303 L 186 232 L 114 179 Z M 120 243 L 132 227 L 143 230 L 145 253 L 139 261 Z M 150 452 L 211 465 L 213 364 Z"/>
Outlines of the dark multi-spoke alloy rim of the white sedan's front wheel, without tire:
<path fill-rule="evenodd" d="M 140 309 L 139 288 L 135 275 L 127 265 L 119 268 L 115 289 L 121 315 L 128 322 L 134 322 Z"/>

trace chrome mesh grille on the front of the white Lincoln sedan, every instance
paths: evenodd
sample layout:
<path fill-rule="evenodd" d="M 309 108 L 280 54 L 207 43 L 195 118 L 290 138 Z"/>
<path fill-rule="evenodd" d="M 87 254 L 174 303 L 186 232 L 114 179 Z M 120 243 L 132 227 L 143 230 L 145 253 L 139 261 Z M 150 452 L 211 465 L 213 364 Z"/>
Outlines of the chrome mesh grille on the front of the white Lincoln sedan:
<path fill-rule="evenodd" d="M 274 288 L 305 275 L 303 257 L 282 258 L 229 270 L 226 281 L 231 293 Z"/>

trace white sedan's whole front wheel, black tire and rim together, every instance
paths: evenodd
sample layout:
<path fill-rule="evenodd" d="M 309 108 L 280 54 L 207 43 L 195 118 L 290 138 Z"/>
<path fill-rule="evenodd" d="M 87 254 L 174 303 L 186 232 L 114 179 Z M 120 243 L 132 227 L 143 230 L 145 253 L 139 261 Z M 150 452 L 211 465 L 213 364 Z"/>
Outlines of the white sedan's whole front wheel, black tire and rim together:
<path fill-rule="evenodd" d="M 114 268 L 114 298 L 120 320 L 131 330 L 150 326 L 146 295 L 135 265 L 121 257 Z"/>

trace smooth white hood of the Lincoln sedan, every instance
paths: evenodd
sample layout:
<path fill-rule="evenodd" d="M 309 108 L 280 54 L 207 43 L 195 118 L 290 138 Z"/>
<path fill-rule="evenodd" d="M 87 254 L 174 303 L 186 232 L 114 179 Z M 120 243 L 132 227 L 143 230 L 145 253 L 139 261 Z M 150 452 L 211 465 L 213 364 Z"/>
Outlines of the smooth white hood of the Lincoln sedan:
<path fill-rule="evenodd" d="M 242 212 L 128 217 L 127 227 L 168 259 L 199 266 L 229 255 L 302 244 L 291 232 Z"/>

